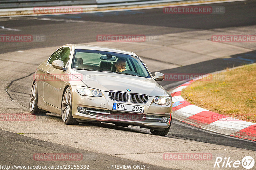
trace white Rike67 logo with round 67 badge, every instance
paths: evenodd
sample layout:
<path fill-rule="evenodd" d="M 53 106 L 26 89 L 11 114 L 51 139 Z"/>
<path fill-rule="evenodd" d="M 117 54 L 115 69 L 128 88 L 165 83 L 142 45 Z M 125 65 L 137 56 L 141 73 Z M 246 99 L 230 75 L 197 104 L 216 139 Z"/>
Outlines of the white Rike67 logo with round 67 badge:
<path fill-rule="evenodd" d="M 238 168 L 241 165 L 245 168 L 245 169 L 251 169 L 254 166 L 254 159 L 251 156 L 245 156 L 242 161 L 240 160 L 232 160 L 230 159 L 230 157 L 225 157 L 224 159 L 222 159 L 221 157 L 217 157 L 214 163 L 214 168 Z"/>

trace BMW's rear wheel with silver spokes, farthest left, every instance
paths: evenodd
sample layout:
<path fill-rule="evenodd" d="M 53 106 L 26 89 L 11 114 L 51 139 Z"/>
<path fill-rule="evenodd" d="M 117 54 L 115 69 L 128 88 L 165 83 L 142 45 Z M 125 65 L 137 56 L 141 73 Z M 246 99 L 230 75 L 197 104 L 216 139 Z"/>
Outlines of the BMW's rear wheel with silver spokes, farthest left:
<path fill-rule="evenodd" d="M 29 100 L 29 110 L 32 115 L 44 116 L 47 112 L 45 110 L 41 110 L 37 106 L 38 97 L 37 97 L 37 83 L 36 81 L 33 83 L 30 93 Z"/>

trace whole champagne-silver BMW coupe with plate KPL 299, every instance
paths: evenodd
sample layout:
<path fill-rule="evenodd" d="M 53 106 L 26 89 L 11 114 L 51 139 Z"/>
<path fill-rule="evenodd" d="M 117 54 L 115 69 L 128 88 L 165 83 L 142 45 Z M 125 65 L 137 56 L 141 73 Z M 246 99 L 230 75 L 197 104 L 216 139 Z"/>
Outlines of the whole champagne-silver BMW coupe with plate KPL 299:
<path fill-rule="evenodd" d="M 149 128 L 165 136 L 172 122 L 172 96 L 128 51 L 68 44 L 41 63 L 33 77 L 29 108 L 33 115 L 60 114 L 65 124 L 88 121 Z"/>

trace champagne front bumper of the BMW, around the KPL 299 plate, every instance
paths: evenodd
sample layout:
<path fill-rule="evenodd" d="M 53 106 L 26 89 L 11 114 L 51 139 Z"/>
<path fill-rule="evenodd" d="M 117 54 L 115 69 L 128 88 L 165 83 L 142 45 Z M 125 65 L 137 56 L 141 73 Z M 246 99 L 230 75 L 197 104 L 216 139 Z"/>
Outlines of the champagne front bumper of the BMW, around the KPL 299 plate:
<path fill-rule="evenodd" d="M 109 98 L 108 92 L 102 91 L 102 97 L 81 96 L 76 91 L 75 86 L 72 90 L 72 115 L 80 122 L 98 121 L 108 123 L 123 123 L 140 126 L 144 128 L 166 129 L 171 124 L 172 102 L 165 105 L 158 105 L 153 102 L 154 97 L 149 97 L 145 104 L 134 104 L 128 102 L 117 102 Z M 132 113 L 113 110 L 113 103 L 123 103 L 144 106 L 144 113 Z M 80 111 L 84 108 L 84 112 Z M 167 122 L 160 122 L 162 117 L 168 117 Z"/>

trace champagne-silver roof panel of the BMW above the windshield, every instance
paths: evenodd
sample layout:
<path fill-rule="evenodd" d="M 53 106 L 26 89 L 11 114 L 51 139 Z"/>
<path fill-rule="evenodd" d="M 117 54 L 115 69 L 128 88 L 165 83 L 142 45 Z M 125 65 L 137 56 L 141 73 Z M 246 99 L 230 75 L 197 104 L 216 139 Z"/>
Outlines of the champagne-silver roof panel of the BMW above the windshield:
<path fill-rule="evenodd" d="M 64 46 L 70 46 L 70 47 L 74 46 L 75 49 L 82 49 L 82 50 L 99 50 L 99 51 L 108 51 L 108 52 L 123 53 L 123 54 L 137 56 L 135 53 L 131 51 L 125 51 L 125 50 L 120 50 L 120 49 L 110 48 L 110 47 L 103 47 L 103 46 L 94 46 L 89 44 L 66 44 Z"/>

